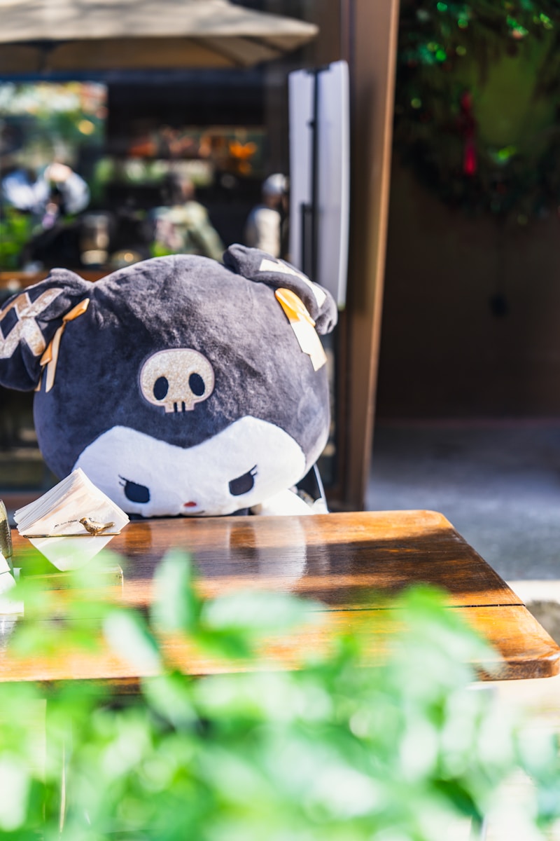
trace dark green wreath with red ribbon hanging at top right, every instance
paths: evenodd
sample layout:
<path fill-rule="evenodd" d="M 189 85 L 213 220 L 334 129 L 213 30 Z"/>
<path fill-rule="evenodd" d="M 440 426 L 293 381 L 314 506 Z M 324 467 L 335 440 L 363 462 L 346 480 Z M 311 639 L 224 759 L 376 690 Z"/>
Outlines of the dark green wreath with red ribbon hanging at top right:
<path fill-rule="evenodd" d="M 401 3 L 395 152 L 447 204 L 557 212 L 559 34 L 559 0 Z"/>

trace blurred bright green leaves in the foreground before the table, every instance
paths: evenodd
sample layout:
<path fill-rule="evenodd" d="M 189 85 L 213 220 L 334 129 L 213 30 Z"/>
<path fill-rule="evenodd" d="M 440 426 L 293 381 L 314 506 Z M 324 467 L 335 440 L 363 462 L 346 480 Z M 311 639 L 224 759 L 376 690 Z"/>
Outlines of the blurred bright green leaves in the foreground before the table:
<path fill-rule="evenodd" d="M 481 822 L 520 772 L 535 783 L 522 811 L 509 807 L 524 837 L 544 838 L 557 817 L 556 739 L 527 735 L 477 690 L 469 663 L 495 655 L 437 592 L 395 601 L 393 643 L 374 668 L 369 625 L 284 670 L 261 659 L 263 639 L 305 636 L 321 606 L 263 592 L 201 599 L 184 553 L 160 564 L 148 616 L 86 595 L 62 607 L 32 577 L 21 587 L 29 621 L 13 633 L 14 655 L 61 659 L 101 635 L 158 676 L 121 698 L 79 680 L 0 685 L 3 838 L 447 841 L 454 822 Z M 46 634 L 30 617 L 49 614 L 58 621 Z M 159 643 L 169 632 L 231 670 L 178 674 Z"/>

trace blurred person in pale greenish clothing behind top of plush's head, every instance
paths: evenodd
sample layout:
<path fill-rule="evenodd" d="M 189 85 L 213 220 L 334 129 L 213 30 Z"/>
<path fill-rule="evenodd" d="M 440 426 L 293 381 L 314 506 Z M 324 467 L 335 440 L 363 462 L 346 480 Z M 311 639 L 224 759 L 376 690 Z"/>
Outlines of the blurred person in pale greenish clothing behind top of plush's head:
<path fill-rule="evenodd" d="M 161 207 L 149 213 L 153 225 L 152 254 L 198 254 L 222 262 L 224 246 L 207 209 L 196 201 L 190 178 L 170 172 L 165 178 Z"/>

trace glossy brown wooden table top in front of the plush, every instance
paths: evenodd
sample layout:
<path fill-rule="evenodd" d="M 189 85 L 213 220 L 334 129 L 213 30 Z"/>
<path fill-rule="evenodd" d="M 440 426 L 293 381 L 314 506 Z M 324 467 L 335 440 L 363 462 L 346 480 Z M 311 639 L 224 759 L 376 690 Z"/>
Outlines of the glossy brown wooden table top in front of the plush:
<path fill-rule="evenodd" d="M 14 565 L 26 541 L 13 533 Z M 328 645 L 332 630 L 375 623 L 383 633 L 386 600 L 410 584 L 426 582 L 447 592 L 447 606 L 461 615 L 500 652 L 497 674 L 504 679 L 550 677 L 560 670 L 560 648 L 518 596 L 463 540 L 444 516 L 433 511 L 341 513 L 307 517 L 216 517 L 133 521 L 110 549 L 123 561 L 126 605 L 145 607 L 152 575 L 170 547 L 188 550 L 200 570 L 205 595 L 239 588 L 290 591 L 322 603 L 327 622 L 270 646 L 271 664 L 296 666 L 301 653 Z M 27 621 L 27 620 L 26 620 Z M 49 622 L 44 621 L 45 633 Z M 165 639 L 166 652 L 191 674 L 227 668 Z M 496 661 L 500 658 L 496 657 Z M 492 664 L 477 664 L 489 678 Z M 103 652 L 64 658 L 0 659 L 0 680 L 110 680 L 123 691 L 151 674 Z"/>

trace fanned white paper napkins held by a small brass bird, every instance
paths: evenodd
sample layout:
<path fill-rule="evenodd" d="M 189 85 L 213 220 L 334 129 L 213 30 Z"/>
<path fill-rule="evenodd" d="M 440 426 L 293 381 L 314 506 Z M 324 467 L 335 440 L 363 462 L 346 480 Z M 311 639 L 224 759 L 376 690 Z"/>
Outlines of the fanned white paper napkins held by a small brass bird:
<path fill-rule="evenodd" d="M 56 569 L 78 569 L 128 523 L 118 505 L 80 468 L 13 515 L 18 532 Z"/>

